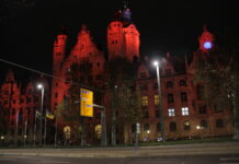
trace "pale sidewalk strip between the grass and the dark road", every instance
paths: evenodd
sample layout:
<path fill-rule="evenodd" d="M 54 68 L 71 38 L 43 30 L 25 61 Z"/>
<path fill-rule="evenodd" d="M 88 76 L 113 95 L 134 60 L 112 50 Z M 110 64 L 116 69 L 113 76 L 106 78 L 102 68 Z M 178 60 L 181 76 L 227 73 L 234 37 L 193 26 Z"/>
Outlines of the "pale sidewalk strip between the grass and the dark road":
<path fill-rule="evenodd" d="M 0 149 L 0 155 L 37 155 L 70 157 L 167 157 L 239 154 L 239 143 L 202 143 L 134 148 L 96 149 Z"/>

